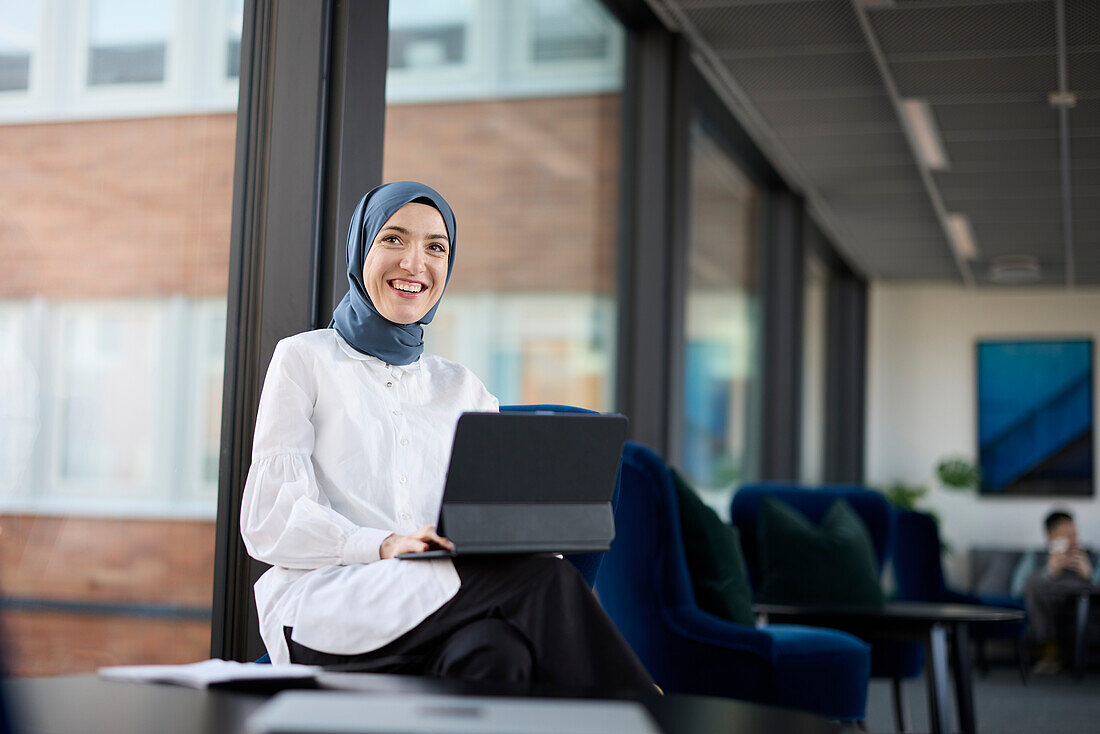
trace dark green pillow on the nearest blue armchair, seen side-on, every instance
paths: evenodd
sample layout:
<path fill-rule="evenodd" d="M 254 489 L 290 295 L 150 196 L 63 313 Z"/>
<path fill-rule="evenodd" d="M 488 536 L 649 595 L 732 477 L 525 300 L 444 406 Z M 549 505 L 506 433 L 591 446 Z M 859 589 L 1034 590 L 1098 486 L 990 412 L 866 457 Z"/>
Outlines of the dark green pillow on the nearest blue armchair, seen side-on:
<path fill-rule="evenodd" d="M 704 612 L 738 624 L 755 624 L 752 589 L 737 529 L 723 523 L 673 469 L 688 572 L 695 603 Z"/>

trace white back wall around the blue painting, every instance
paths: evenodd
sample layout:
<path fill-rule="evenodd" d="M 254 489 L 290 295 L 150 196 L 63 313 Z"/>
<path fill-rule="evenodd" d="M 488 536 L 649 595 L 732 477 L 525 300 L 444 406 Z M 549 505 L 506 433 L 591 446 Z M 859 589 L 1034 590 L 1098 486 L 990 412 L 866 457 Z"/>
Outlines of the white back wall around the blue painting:
<path fill-rule="evenodd" d="M 1100 547 L 1096 494 L 1072 500 L 979 499 L 974 492 L 945 489 L 935 478 L 944 457 L 977 459 L 976 340 L 1100 340 L 1100 289 L 875 283 L 869 310 L 866 478 L 878 486 L 903 481 L 930 487 L 922 506 L 939 514 L 941 533 L 954 549 L 946 563 L 949 581 L 965 587 L 971 546 L 1041 545 L 1043 517 L 1055 505 L 1069 507 L 1082 540 Z M 1098 374 L 1093 368 L 1094 381 Z M 1096 383 L 1092 393 L 1096 409 Z M 1098 449 L 1093 447 L 1096 457 Z"/>

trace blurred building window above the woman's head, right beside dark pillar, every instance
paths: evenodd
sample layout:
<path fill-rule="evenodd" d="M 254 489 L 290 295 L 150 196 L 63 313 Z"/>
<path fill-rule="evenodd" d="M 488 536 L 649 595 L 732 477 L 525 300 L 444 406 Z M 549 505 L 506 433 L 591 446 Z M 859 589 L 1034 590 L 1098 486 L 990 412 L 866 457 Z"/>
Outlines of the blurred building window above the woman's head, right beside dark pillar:
<path fill-rule="evenodd" d="M 474 3 L 470 0 L 393 0 L 389 68 L 431 69 L 466 59 Z"/>

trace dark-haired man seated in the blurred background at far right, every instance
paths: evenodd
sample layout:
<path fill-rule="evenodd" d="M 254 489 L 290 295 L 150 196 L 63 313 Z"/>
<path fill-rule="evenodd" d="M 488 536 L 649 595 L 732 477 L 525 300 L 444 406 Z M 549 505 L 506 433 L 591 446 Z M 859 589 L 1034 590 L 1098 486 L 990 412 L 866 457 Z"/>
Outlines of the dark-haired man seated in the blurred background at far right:
<path fill-rule="evenodd" d="M 1077 525 L 1068 512 L 1052 512 L 1044 525 L 1047 550 L 1020 559 L 1012 595 L 1024 598 L 1032 635 L 1042 645 L 1035 672 L 1053 673 L 1062 669 L 1060 643 L 1070 634 L 1072 604 L 1081 591 L 1100 583 L 1100 566 L 1094 554 L 1078 545 Z"/>

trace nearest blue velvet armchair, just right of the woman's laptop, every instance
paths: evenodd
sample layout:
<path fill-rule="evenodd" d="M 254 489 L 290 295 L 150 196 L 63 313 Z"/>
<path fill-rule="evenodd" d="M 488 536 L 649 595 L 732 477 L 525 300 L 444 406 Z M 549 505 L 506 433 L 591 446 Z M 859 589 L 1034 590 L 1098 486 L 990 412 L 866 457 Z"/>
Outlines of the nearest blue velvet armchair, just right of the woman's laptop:
<path fill-rule="evenodd" d="M 755 628 L 703 612 L 692 592 L 664 462 L 627 441 L 619 484 L 615 541 L 596 592 L 661 688 L 864 719 L 867 645 L 832 629 Z"/>

